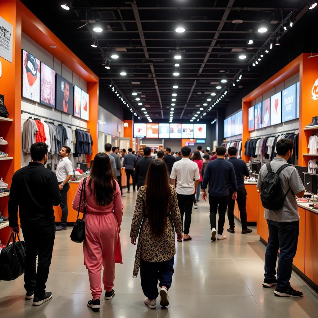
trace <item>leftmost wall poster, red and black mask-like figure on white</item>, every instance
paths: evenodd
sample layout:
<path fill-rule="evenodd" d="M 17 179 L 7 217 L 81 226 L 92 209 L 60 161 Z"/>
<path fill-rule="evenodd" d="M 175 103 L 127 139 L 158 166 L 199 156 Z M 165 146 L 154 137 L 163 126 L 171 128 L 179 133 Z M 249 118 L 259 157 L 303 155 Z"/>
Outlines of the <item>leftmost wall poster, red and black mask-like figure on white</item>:
<path fill-rule="evenodd" d="M 22 50 L 22 97 L 40 102 L 40 60 Z"/>

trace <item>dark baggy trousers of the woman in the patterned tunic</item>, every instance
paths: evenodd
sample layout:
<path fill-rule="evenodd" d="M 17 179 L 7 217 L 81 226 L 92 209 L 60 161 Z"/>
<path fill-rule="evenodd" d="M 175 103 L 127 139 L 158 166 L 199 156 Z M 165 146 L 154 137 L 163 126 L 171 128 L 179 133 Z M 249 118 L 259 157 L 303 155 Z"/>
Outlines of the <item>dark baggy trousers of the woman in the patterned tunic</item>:
<path fill-rule="evenodd" d="M 165 286 L 167 289 L 171 287 L 174 259 L 165 262 L 147 262 L 141 260 L 140 263 L 140 279 L 142 291 L 149 299 L 156 299 L 159 287 Z"/>

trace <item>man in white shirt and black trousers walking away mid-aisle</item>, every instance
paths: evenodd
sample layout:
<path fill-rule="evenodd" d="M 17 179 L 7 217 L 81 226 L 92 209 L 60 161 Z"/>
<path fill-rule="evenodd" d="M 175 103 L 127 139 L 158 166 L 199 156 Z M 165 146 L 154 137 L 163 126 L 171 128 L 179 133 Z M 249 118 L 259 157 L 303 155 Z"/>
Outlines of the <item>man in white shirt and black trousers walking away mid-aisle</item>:
<path fill-rule="evenodd" d="M 177 198 L 179 210 L 181 213 L 182 228 L 183 228 L 183 215 L 184 219 L 184 237 L 183 241 L 190 241 L 192 238 L 189 236 L 192 205 L 194 202 L 194 195 L 197 193 L 197 187 L 200 180 L 199 167 L 196 162 L 189 159 L 191 156 L 191 149 L 185 146 L 181 149 L 182 159 L 176 161 L 171 170 L 170 179 L 173 186 L 176 186 L 177 179 Z M 178 242 L 182 242 L 178 240 Z"/>

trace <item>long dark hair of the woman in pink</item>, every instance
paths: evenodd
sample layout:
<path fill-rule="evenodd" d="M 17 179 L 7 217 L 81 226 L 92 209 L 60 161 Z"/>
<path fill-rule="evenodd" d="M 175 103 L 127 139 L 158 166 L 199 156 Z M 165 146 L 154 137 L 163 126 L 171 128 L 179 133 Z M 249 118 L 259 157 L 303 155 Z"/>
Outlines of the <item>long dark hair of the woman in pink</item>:
<path fill-rule="evenodd" d="M 116 192 L 114 172 L 108 155 L 103 152 L 99 152 L 94 157 L 88 189 L 93 193 L 99 206 L 105 206 L 114 201 Z"/>

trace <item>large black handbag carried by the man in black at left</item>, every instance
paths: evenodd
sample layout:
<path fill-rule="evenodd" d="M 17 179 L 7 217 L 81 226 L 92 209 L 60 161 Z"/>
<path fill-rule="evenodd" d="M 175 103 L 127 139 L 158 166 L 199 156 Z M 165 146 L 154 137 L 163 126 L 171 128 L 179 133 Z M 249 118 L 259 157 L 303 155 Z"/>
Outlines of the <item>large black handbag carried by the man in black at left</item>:
<path fill-rule="evenodd" d="M 0 280 L 15 280 L 24 273 L 25 250 L 19 234 L 11 233 L 7 246 L 0 252 Z"/>

